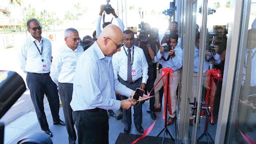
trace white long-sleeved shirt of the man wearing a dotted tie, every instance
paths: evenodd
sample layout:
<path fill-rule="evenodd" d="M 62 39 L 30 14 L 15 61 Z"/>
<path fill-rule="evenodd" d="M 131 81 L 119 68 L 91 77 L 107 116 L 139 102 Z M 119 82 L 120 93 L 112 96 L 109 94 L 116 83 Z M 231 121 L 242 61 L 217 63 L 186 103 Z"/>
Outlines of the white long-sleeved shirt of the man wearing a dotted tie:
<path fill-rule="evenodd" d="M 133 55 L 134 47 L 134 57 Z M 133 59 L 132 64 L 132 81 L 135 81 L 142 77 L 142 83 L 147 84 L 148 80 L 148 62 L 146 60 L 143 50 L 135 45 L 131 47 L 131 60 Z M 117 78 L 117 74 L 124 80 L 127 81 L 127 60 L 128 57 L 128 48 L 125 46 L 121 47 L 121 51 L 113 55 L 112 63 L 114 68 L 114 74 Z M 134 72 L 135 71 L 135 72 Z"/>

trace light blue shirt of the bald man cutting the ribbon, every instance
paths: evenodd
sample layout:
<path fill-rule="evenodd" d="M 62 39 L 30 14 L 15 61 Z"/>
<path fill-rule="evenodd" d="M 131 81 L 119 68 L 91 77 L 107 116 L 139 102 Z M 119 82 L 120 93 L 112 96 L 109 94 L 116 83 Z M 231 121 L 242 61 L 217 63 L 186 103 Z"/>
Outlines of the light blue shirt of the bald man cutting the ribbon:
<path fill-rule="evenodd" d="M 97 42 L 79 57 L 70 106 L 74 111 L 102 108 L 119 109 L 115 91 L 130 97 L 133 90 L 114 76 L 112 57 L 104 56 Z"/>

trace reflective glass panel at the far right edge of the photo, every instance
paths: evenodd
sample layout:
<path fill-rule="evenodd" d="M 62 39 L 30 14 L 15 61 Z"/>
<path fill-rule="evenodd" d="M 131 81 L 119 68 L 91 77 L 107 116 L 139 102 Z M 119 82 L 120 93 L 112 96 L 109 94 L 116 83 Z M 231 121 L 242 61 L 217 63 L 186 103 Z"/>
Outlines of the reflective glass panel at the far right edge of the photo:
<path fill-rule="evenodd" d="M 242 81 L 239 84 L 241 88 L 238 102 L 236 122 L 232 124 L 234 131 L 232 143 L 255 143 L 256 142 L 256 1 L 244 2 L 243 22 L 242 27 L 245 31 L 241 31 L 241 36 L 244 41 L 240 41 L 242 45 L 239 47 L 239 54 L 243 55 L 242 72 L 239 76 Z M 241 39 L 242 39 L 241 38 Z M 243 44 L 244 43 L 244 44 Z M 239 71 L 239 69 L 236 69 Z M 234 99 L 234 98 L 233 98 Z"/>

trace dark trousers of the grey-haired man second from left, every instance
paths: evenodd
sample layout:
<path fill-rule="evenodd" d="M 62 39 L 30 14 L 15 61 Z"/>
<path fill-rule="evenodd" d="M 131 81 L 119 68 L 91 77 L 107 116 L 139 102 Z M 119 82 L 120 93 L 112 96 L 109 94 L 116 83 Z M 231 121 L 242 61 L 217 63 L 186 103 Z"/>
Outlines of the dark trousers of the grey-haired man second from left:
<path fill-rule="evenodd" d="M 68 132 L 68 141 L 69 144 L 74 144 L 76 142 L 76 131 L 72 117 L 72 108 L 69 105 L 72 100 L 73 84 L 59 83 L 59 91 Z"/>

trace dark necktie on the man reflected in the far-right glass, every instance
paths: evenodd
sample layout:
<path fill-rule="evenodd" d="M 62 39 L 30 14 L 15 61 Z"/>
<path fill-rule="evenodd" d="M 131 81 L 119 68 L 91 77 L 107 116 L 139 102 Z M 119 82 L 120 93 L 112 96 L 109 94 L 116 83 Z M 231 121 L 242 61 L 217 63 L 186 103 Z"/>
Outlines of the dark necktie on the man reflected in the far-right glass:
<path fill-rule="evenodd" d="M 252 75 L 252 50 L 249 50 L 247 55 L 247 60 L 246 60 L 244 87 L 251 86 L 251 75 Z"/>

